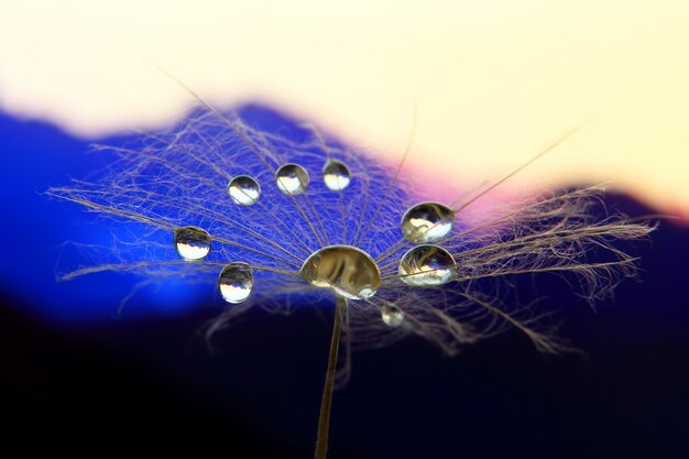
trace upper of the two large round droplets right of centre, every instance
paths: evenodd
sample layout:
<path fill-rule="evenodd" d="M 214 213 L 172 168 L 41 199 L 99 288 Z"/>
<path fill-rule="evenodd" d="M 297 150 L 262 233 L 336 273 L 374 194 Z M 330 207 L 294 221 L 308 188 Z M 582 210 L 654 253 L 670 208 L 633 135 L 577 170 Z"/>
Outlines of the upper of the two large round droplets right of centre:
<path fill-rule="evenodd" d="M 440 203 L 420 203 L 402 217 L 402 232 L 412 242 L 431 242 L 452 231 L 455 212 Z"/>

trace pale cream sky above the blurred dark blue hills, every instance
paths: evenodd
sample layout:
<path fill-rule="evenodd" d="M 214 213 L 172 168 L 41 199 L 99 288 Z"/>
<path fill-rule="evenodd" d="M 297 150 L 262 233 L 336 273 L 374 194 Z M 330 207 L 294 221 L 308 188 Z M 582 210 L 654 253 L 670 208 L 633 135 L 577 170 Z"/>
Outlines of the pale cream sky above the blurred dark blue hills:
<path fill-rule="evenodd" d="M 259 100 L 462 188 L 611 182 L 689 219 L 689 2 L 0 0 L 0 108 L 96 136 Z M 7 154 L 3 152 L 2 154 Z M 58 154 L 58 152 L 56 152 Z"/>

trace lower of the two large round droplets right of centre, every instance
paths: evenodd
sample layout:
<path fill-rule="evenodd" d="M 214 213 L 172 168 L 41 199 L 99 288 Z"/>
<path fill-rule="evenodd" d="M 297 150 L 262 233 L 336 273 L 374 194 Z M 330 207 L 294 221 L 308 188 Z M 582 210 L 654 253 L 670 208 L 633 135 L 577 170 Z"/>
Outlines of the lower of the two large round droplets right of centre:
<path fill-rule="evenodd" d="M 455 275 L 455 259 L 438 245 L 418 245 L 402 256 L 400 280 L 414 287 L 430 287 L 450 282 Z"/>

